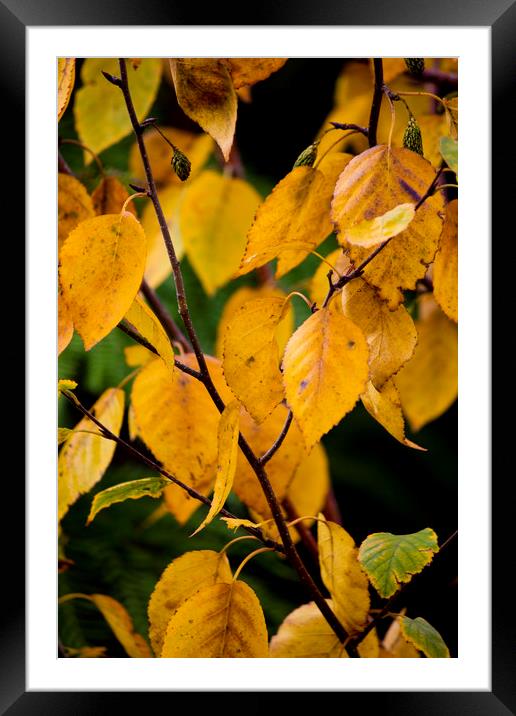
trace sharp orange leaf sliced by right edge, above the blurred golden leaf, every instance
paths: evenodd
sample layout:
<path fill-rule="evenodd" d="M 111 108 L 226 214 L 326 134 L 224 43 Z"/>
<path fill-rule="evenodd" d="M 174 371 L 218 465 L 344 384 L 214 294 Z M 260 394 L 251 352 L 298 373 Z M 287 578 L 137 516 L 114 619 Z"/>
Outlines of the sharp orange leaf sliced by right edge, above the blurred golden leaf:
<path fill-rule="evenodd" d="M 446 206 L 443 233 L 434 262 L 433 280 L 436 301 L 455 323 L 459 320 L 458 251 L 458 202 L 454 199 Z"/>

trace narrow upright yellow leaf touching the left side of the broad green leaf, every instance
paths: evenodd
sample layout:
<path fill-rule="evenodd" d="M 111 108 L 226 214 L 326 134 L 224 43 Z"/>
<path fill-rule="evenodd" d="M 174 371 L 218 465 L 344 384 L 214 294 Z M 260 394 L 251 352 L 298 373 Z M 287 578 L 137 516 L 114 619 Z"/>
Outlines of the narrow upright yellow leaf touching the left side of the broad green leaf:
<path fill-rule="evenodd" d="M 317 543 L 321 578 L 346 631 L 362 631 L 367 623 L 370 598 L 355 542 L 343 527 L 326 521 L 321 514 L 319 518 Z"/>

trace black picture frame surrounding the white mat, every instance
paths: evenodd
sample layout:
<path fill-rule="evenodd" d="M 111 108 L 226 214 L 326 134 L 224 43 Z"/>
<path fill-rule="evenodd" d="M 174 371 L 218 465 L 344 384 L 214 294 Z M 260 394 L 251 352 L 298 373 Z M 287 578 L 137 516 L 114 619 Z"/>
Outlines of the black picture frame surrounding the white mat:
<path fill-rule="evenodd" d="M 249 8 L 243 3 L 231 8 L 230 13 L 222 14 L 220 4 L 213 3 L 202 12 L 195 4 L 183 4 L 162 0 L 0 0 L 0 77 L 2 98 L 2 137 L 3 147 L 10 145 L 16 149 L 16 158 L 5 164 L 4 191 L 9 194 L 9 212 L 18 211 L 24 215 L 24 161 L 22 147 L 25 145 L 25 30 L 27 26 L 60 25 L 197 25 L 202 15 L 204 25 L 332 25 L 353 26 L 484 26 L 491 28 L 492 37 L 492 236 L 502 235 L 504 216 L 510 213 L 514 202 L 514 182 L 505 179 L 504 167 L 512 164 L 514 144 L 511 140 L 514 126 L 513 98 L 516 45 L 516 2 L 514 0 L 433 0 L 414 2 L 414 0 L 390 0 L 379 3 L 378 0 L 361 0 L 360 3 L 344 0 L 317 0 L 315 3 L 297 0 L 280 5 L 273 0 L 262 0 L 253 7 L 251 17 Z M 229 8 L 228 8 L 229 9 Z M 472 118 L 469 118 L 470 121 Z M 8 138 L 8 142 L 6 141 Z M 512 202 L 511 202 L 512 200 Z M 18 202 L 19 206 L 15 206 Z M 509 207 L 509 209 L 508 209 Z M 505 225 L 504 225 L 505 229 Z M 513 231 L 511 232 L 513 233 Z M 505 243 L 511 243 L 510 236 Z M 502 244 L 504 242 L 501 242 Z M 21 251 L 20 251 L 21 249 Z M 492 245 L 492 265 L 496 266 L 496 257 L 501 256 L 501 248 Z M 507 251 L 505 246 L 504 251 Z M 16 261 L 24 265 L 24 247 L 18 245 Z M 11 264 L 12 265 L 12 264 Z M 20 265 L 20 264 L 16 264 Z M 12 269 L 11 269 L 12 270 Z M 19 290 L 19 271 L 15 281 Z M 14 295 L 14 294 L 13 294 Z M 493 281 L 492 289 L 493 319 L 499 319 L 502 311 L 501 287 Z M 22 300 L 17 300 L 17 309 L 12 311 L 4 330 L 7 335 L 16 335 L 16 326 L 21 322 Z M 497 310 L 496 310 L 497 309 Z M 493 320 L 493 328 L 496 321 Z M 20 329 L 18 327 L 18 334 Z M 19 343 L 17 343 L 19 345 Z M 30 343 L 28 350 L 31 350 Z M 14 351 L 13 351 L 14 353 Z M 19 370 L 19 349 L 16 349 Z M 493 354 L 493 376 L 503 375 L 506 366 L 498 366 L 497 353 Z M 12 374 L 12 365 L 9 367 Z M 501 380 L 501 378 L 499 378 Z M 501 387 L 505 390 L 505 387 Z M 496 414 L 496 396 L 499 391 L 493 388 L 492 411 Z M 20 393 L 16 401 L 21 402 Z M 500 399 L 501 404 L 501 399 Z M 504 420 L 505 421 L 505 420 Z M 21 422 L 21 421 L 20 421 Z M 20 424 L 20 423 L 18 423 Z M 492 455 L 503 455 L 504 445 L 509 444 L 509 427 L 498 426 L 492 433 Z M 23 453 L 21 453 L 23 454 Z M 510 465 L 511 462 L 508 463 Z M 493 461 L 493 473 L 496 461 Z M 507 464 L 504 473 L 507 472 Z M 20 462 L 17 463 L 17 471 Z M 509 468 L 510 470 L 510 468 Z M 501 472 L 501 471 L 500 471 Z M 504 473 L 492 481 L 493 527 L 492 527 L 492 690 L 444 691 L 444 692 L 342 692 L 338 695 L 341 707 L 349 709 L 356 703 L 360 709 L 368 707 L 378 713 L 388 714 L 478 714 L 479 716 L 516 713 L 516 640 L 514 639 L 514 618 L 512 616 L 512 598 L 505 586 L 510 570 L 510 525 L 513 500 L 507 499 L 508 482 Z M 494 476 L 494 475 L 493 475 Z M 8 500 L 11 505 L 24 504 L 24 486 L 20 478 L 10 480 Z M 5 497 L 4 497 L 5 499 Z M 4 503 L 5 504 L 5 503 Z M 19 511 L 22 512 L 21 508 Z M 159 698 L 166 708 L 172 708 L 174 699 L 177 707 L 177 694 L 167 693 L 95 693 L 95 692 L 26 692 L 25 689 L 25 614 L 24 614 L 24 532 L 20 518 L 15 527 L 0 520 L 2 530 L 3 608 L 1 610 L 1 649 L 0 649 L 0 713 L 9 716 L 22 714 L 104 714 L 124 708 L 128 697 L 129 704 L 138 709 L 149 708 L 149 699 L 155 708 L 155 699 Z M 14 529 L 14 532 L 13 532 Z M 15 539 L 13 534 L 15 533 Z M 506 546 L 508 545 L 508 546 Z M 514 562 L 514 560 L 513 560 Z M 510 575 L 509 575 L 510 576 Z M 49 577 L 50 578 L 50 577 Z M 472 595 L 474 599 L 474 595 Z M 474 625 L 472 625 L 474 627 Z M 410 688 L 410 685 L 407 685 Z M 206 702 L 211 694 L 188 694 L 190 708 L 199 705 L 199 699 Z M 283 706 L 288 694 L 256 693 L 252 700 L 241 701 L 246 713 L 263 712 L 271 706 Z M 274 698 L 274 702 L 271 697 Z M 192 701 L 192 698 L 194 701 Z M 304 693 L 302 705 L 312 709 L 317 694 Z M 300 700 L 301 701 L 301 700 Z M 289 701 L 290 703 L 290 701 Z M 203 704 L 204 705 L 204 704 Z M 301 705 L 301 704 L 300 704 Z M 298 707 L 296 707 L 298 708 Z"/>

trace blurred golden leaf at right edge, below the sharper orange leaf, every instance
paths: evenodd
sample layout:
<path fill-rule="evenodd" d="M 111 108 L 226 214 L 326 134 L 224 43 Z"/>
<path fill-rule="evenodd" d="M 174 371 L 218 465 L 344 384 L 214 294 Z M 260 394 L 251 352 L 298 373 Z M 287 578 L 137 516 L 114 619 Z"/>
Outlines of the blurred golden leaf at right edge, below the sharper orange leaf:
<path fill-rule="evenodd" d="M 419 300 L 418 344 L 395 377 L 401 405 L 413 431 L 444 413 L 457 397 L 457 326 L 432 296 Z"/>

